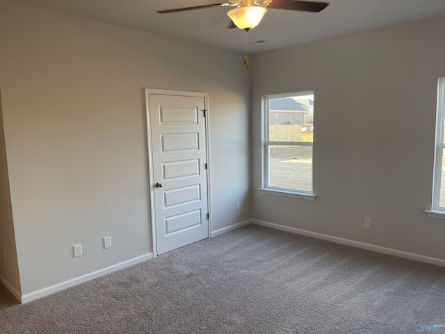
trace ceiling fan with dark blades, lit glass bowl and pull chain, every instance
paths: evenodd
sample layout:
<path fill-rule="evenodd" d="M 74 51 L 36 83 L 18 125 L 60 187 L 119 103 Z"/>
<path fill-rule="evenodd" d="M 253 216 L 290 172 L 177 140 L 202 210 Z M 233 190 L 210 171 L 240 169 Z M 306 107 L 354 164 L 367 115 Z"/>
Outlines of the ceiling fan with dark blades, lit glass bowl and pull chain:
<path fill-rule="evenodd" d="M 261 22 L 261 19 L 268 9 L 298 10 L 302 12 L 318 13 L 325 9 L 327 5 L 329 5 L 329 3 L 303 0 L 228 0 L 228 2 L 213 3 L 210 5 L 158 10 L 157 13 L 178 13 L 187 10 L 236 6 L 236 8 L 229 10 L 227 13 L 230 19 L 232 19 L 229 29 L 237 26 L 239 29 L 243 29 L 246 32 L 244 63 L 247 68 L 249 68 L 247 33 Z"/>

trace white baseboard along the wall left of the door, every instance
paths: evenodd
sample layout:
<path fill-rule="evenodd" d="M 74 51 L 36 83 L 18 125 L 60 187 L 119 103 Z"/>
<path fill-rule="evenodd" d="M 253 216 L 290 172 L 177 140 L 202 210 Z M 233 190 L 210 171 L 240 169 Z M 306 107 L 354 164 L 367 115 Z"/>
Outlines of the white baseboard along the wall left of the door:
<path fill-rule="evenodd" d="M 44 296 L 48 296 L 49 294 L 54 294 L 55 292 L 59 292 L 63 289 L 67 289 L 68 287 L 73 287 L 74 285 L 78 285 L 80 283 L 87 282 L 88 280 L 92 280 L 93 278 L 98 278 L 100 276 L 104 276 L 108 273 L 113 273 L 113 271 L 118 271 L 120 269 L 124 269 L 126 267 L 133 266 L 134 264 L 138 264 L 140 262 L 150 260 L 153 258 L 153 253 L 147 253 L 145 255 L 140 255 L 138 257 L 134 257 L 133 259 L 120 262 L 118 264 L 113 264 L 110 267 L 106 267 L 103 269 L 99 269 L 97 271 L 92 271 L 91 273 L 86 273 L 85 275 L 72 278 L 70 280 L 65 280 L 65 282 L 57 283 L 55 285 L 51 285 L 50 287 L 44 287 L 43 289 L 30 292 L 29 294 L 24 294 L 19 297 L 19 301 L 24 303 L 29 303 L 30 301 L 34 301 L 35 299 L 42 298 Z"/>

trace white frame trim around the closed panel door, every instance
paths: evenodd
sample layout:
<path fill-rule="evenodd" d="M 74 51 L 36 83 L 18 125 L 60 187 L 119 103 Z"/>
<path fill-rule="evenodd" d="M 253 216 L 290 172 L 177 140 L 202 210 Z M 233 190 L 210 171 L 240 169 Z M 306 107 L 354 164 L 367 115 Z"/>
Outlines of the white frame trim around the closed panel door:
<path fill-rule="evenodd" d="M 149 95 L 172 95 L 172 96 L 193 96 L 204 97 L 204 108 L 206 109 L 205 127 L 206 127 L 206 155 L 207 155 L 207 212 L 209 212 L 209 238 L 211 237 L 211 202 L 210 202 L 210 149 L 209 149 L 209 93 L 188 92 L 185 90 L 167 90 L 158 88 L 145 88 L 145 117 L 147 120 L 147 175 L 148 175 L 148 189 L 149 189 L 149 217 L 152 224 L 152 252 L 153 257 L 158 255 L 156 249 L 156 216 L 154 213 L 154 176 L 153 176 L 153 148 L 152 148 L 152 127 L 150 123 L 150 106 Z"/>

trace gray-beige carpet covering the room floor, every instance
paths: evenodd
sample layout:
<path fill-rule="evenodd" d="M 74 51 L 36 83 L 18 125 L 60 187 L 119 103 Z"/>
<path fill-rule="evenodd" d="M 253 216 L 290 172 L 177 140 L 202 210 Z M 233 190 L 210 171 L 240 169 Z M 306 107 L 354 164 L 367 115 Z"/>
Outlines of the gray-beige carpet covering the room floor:
<path fill-rule="evenodd" d="M 256 225 L 0 309 L 0 333 L 382 334 L 441 324 L 445 268 Z"/>

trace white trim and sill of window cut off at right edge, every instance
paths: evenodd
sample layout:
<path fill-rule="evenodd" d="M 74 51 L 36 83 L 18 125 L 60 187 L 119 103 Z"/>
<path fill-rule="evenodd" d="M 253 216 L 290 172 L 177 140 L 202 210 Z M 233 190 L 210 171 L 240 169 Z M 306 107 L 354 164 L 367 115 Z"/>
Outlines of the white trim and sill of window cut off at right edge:
<path fill-rule="evenodd" d="M 445 125 L 445 78 L 439 78 L 437 84 L 437 109 L 436 109 L 436 136 L 434 173 L 432 179 L 432 205 L 430 210 L 425 210 L 430 218 L 445 219 L 445 207 L 440 203 L 440 186 L 442 181 L 442 158 L 445 150 L 444 125 Z M 445 180 L 444 180 L 445 181 Z"/>

